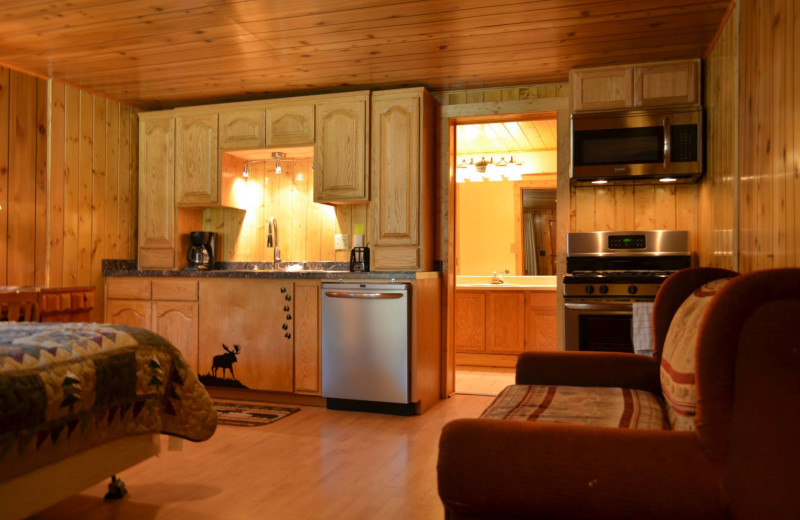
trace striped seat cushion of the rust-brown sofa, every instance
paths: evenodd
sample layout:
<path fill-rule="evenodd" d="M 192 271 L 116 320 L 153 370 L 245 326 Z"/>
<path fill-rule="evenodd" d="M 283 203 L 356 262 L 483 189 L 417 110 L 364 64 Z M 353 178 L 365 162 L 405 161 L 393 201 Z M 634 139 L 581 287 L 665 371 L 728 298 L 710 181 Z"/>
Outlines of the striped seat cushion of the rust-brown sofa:
<path fill-rule="evenodd" d="M 481 418 L 645 430 L 668 426 L 656 396 L 613 387 L 511 385 L 498 394 Z"/>

